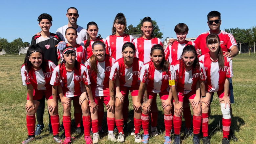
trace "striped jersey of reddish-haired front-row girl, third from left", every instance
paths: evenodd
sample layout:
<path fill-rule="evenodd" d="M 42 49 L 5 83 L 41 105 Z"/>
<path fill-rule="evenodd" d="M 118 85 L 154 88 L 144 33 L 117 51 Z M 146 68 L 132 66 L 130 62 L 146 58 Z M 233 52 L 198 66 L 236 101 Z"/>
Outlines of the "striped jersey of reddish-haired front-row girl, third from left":
<path fill-rule="evenodd" d="M 97 61 L 97 68 L 99 73 L 96 73 L 91 69 L 90 58 L 86 61 L 85 65 L 88 69 L 92 92 L 95 92 L 95 96 L 109 96 L 109 75 L 111 67 L 114 63 L 115 59 L 109 55 L 106 55 L 106 58 L 103 62 Z"/>

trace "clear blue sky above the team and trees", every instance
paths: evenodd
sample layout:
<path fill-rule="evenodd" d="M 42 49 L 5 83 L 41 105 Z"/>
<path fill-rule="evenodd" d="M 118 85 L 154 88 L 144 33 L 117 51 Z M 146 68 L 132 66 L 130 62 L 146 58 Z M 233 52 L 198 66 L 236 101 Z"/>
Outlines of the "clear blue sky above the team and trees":
<path fill-rule="evenodd" d="M 128 0 L 128 1 L 1 1 L 2 20 L 0 37 L 9 42 L 20 37 L 23 42 L 31 43 L 32 36 L 41 29 L 37 18 L 41 13 L 49 13 L 53 17 L 50 31 L 55 33 L 58 27 L 68 24 L 67 9 L 78 9 L 77 24 L 85 27 L 94 21 L 99 27 L 98 34 L 106 38 L 111 34 L 113 20 L 118 12 L 124 13 L 127 26 L 137 26 L 139 20 L 150 16 L 156 20 L 163 38 L 176 37 L 174 27 L 185 23 L 189 27 L 187 37 L 196 37 L 207 31 L 207 14 L 212 10 L 221 12 L 224 28 L 250 28 L 256 24 L 255 1 L 252 0 L 215 0 L 215 1 L 173 1 L 173 0 Z M 162 29 L 164 25 L 164 29 Z"/>

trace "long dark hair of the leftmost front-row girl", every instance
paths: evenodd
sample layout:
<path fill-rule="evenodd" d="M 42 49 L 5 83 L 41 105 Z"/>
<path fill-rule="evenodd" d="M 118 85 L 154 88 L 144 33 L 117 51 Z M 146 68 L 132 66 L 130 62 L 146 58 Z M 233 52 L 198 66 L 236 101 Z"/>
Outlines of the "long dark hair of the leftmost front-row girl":
<path fill-rule="evenodd" d="M 41 55 L 42 55 L 42 64 L 40 66 L 41 66 L 43 72 L 45 72 L 46 64 L 44 62 L 44 53 L 43 53 L 42 49 L 40 48 L 40 46 L 37 45 L 37 44 L 30 45 L 30 47 L 27 51 L 27 54 L 26 54 L 26 57 L 25 57 L 25 60 L 24 60 L 24 64 L 25 64 L 27 72 L 29 73 L 29 70 L 33 67 L 32 63 L 29 61 L 29 57 L 31 56 L 31 54 L 33 52 L 41 53 Z"/>

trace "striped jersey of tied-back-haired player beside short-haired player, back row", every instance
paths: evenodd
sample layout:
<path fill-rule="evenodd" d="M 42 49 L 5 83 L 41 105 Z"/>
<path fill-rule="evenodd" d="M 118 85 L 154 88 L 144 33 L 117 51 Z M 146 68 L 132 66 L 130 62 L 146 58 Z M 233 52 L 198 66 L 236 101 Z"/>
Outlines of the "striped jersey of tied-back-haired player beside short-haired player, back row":
<path fill-rule="evenodd" d="M 151 61 L 150 59 L 150 50 L 154 45 L 162 45 L 162 42 L 159 38 L 151 38 L 151 39 L 144 39 L 142 37 L 134 39 L 133 44 L 136 48 L 136 57 L 139 58 L 140 61 L 143 63 L 147 63 Z"/>

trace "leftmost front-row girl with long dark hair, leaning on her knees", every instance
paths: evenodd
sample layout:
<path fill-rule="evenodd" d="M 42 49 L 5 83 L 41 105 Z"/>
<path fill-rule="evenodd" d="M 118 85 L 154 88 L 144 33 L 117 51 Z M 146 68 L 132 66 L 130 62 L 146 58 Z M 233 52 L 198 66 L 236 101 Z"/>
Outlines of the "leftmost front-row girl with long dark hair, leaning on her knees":
<path fill-rule="evenodd" d="M 21 67 L 23 85 L 27 85 L 27 128 L 29 136 L 22 143 L 27 144 L 35 138 L 35 113 L 39 105 L 39 100 L 46 96 L 51 124 L 53 128 L 53 139 L 57 143 L 62 140 L 59 137 L 59 115 L 58 99 L 52 96 L 52 86 L 50 84 L 52 71 L 56 65 L 52 61 L 44 59 L 44 53 L 39 45 L 32 44 L 26 54 L 24 64 Z"/>

